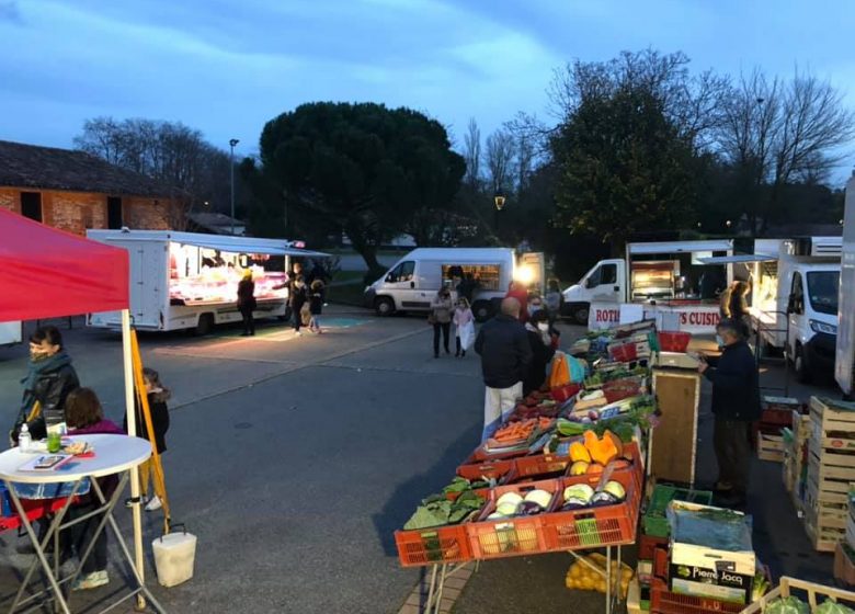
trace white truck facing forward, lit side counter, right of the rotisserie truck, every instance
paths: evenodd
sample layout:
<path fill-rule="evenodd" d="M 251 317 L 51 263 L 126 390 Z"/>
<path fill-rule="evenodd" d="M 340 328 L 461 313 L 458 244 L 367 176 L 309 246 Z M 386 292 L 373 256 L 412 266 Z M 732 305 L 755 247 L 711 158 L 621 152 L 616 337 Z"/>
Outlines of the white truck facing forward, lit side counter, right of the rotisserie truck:
<path fill-rule="evenodd" d="M 841 237 L 757 239 L 749 309 L 761 341 L 786 353 L 800 382 L 834 368 Z"/>

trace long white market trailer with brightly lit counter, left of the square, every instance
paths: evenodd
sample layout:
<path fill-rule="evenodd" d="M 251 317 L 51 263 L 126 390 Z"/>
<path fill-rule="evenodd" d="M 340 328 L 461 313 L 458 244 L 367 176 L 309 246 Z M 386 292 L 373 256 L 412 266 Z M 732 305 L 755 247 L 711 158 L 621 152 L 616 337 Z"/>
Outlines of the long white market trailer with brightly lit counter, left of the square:
<path fill-rule="evenodd" d="M 87 230 L 87 237 L 128 251 L 133 323 L 152 331 L 205 334 L 215 325 L 239 322 L 238 283 L 248 269 L 255 282 L 255 317 L 286 318 L 290 259 L 327 255 L 284 239 L 128 229 Z M 118 330 L 121 312 L 90 314 L 87 325 Z"/>

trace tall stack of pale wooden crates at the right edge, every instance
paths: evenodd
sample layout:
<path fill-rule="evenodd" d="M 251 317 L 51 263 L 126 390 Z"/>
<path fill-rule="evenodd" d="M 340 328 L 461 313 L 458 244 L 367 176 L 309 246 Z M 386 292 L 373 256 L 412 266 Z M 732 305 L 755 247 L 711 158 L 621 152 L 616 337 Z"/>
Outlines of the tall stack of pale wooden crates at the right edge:
<path fill-rule="evenodd" d="M 845 537 L 855 481 L 855 403 L 811 397 L 810 422 L 805 528 L 817 550 L 834 552 Z"/>

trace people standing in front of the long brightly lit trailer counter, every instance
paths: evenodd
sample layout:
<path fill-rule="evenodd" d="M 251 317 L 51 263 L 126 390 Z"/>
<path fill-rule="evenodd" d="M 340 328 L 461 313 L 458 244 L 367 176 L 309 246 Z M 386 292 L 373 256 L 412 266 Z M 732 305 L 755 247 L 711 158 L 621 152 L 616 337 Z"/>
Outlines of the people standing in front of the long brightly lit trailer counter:
<path fill-rule="evenodd" d="M 288 274 L 288 280 L 276 289 L 288 288 L 288 309 L 294 319 L 294 332 L 303 334 L 300 329 L 306 327 L 309 331 L 320 334 L 320 316 L 323 310 L 326 286 L 321 275 L 312 272 L 311 280 L 307 280 L 303 273 L 303 264 L 294 263 L 294 269 Z M 238 310 L 243 318 L 242 337 L 255 334 L 255 320 L 253 312 L 258 307 L 255 300 L 255 282 L 252 281 L 252 271 L 247 269 L 243 278 L 238 284 Z"/>

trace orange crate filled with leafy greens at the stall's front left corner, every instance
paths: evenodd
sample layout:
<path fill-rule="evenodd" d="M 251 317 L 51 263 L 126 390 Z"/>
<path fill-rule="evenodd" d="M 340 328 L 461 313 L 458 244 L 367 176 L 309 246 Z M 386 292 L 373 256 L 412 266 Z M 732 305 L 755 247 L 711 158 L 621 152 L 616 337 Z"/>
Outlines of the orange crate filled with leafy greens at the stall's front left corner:
<path fill-rule="evenodd" d="M 401 565 L 419 567 L 471 560 L 466 526 L 478 518 L 485 502 L 483 491 L 472 490 L 454 493 L 444 490 L 422 500 L 403 530 L 395 532 Z"/>

